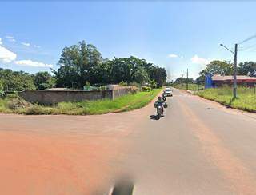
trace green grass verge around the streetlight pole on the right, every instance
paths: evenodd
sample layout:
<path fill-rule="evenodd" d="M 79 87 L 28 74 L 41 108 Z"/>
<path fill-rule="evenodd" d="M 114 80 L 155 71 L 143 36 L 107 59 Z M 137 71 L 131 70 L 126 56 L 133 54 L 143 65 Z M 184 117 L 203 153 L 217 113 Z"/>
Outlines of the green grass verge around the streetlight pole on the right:
<path fill-rule="evenodd" d="M 254 94 L 254 88 L 238 87 L 238 98 L 236 99 L 233 99 L 232 88 L 228 86 L 202 90 L 195 94 L 202 98 L 218 101 L 222 105 L 234 109 L 256 112 L 256 94 Z"/>

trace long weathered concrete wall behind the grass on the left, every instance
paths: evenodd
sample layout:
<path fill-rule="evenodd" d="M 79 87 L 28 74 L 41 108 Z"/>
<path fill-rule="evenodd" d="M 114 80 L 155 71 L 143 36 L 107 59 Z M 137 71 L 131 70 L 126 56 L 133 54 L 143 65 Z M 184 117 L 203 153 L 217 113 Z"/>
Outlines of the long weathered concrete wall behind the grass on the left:
<path fill-rule="evenodd" d="M 134 93 L 134 87 L 119 87 L 118 90 L 25 90 L 19 96 L 31 103 L 53 105 L 62 101 L 85 101 L 114 99 L 128 93 Z"/>

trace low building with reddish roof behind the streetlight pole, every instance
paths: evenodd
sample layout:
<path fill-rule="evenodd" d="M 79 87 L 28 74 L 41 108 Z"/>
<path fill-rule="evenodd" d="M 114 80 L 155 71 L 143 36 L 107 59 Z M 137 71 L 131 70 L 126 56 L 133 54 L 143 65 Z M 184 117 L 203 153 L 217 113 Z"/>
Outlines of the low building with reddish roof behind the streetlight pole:
<path fill-rule="evenodd" d="M 212 84 L 213 86 L 223 86 L 223 85 L 233 85 L 234 77 L 233 76 L 222 76 L 222 75 L 214 75 L 212 76 Z M 238 85 L 242 86 L 254 86 L 256 84 L 256 78 L 238 75 L 237 76 L 237 83 Z"/>

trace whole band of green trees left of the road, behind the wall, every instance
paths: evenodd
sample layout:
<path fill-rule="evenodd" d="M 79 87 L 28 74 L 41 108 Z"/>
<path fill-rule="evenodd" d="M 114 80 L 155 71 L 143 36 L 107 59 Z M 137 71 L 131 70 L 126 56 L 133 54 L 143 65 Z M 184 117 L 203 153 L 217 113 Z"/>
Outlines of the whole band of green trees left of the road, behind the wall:
<path fill-rule="evenodd" d="M 58 70 L 52 70 L 54 76 L 46 71 L 29 74 L 0 68 L 0 90 L 46 90 L 53 86 L 82 89 L 86 83 L 104 85 L 120 82 L 160 87 L 167 76 L 164 68 L 134 56 L 103 59 L 97 48 L 85 41 L 66 46 L 58 65 Z"/>

